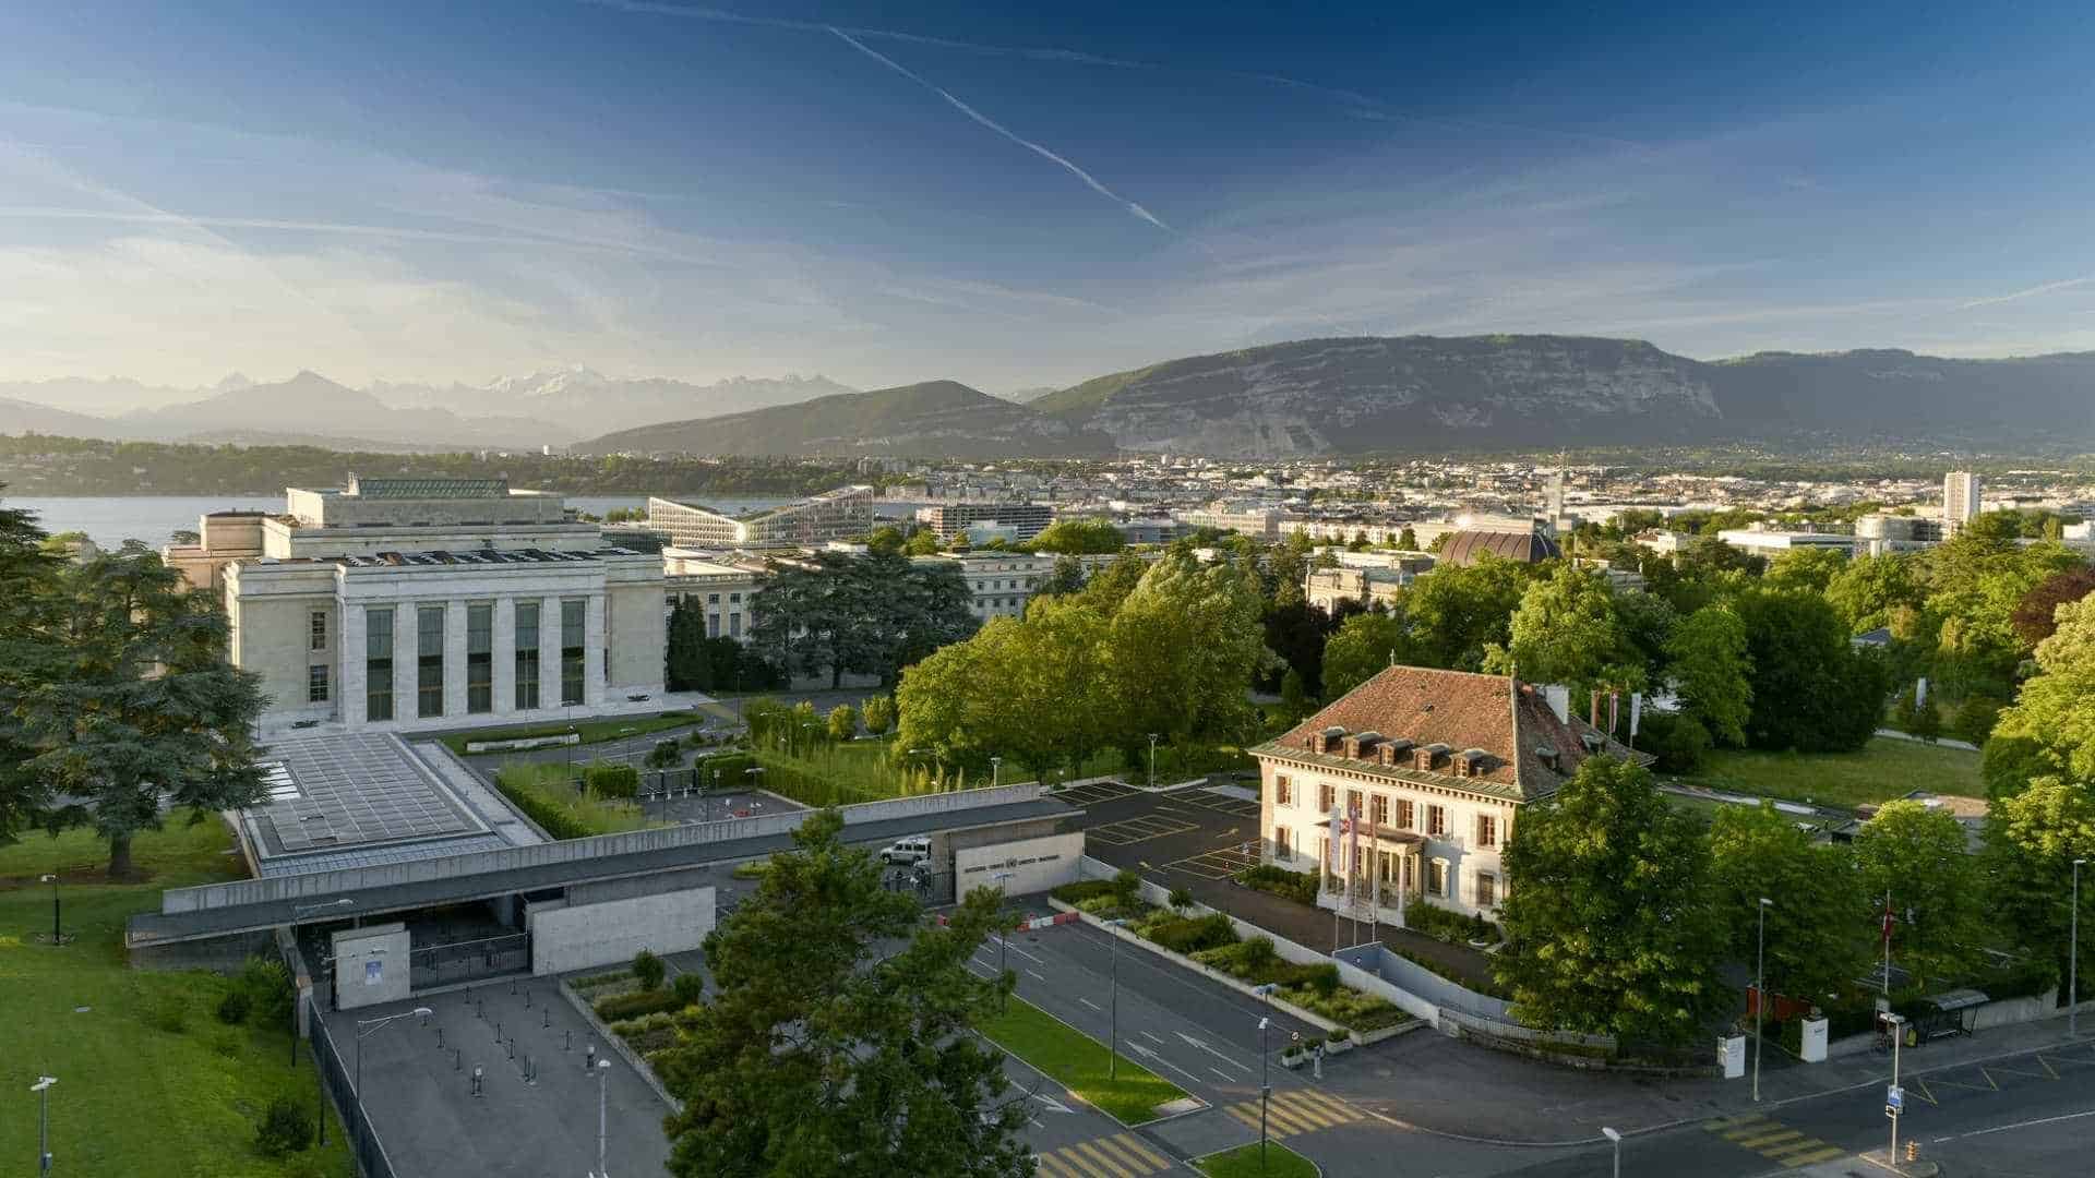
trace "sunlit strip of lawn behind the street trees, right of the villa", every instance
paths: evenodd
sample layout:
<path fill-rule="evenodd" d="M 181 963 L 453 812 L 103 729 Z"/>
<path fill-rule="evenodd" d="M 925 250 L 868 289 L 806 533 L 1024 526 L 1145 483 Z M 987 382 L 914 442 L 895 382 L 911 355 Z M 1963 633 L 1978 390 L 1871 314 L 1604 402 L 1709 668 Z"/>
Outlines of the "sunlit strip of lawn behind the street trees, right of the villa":
<path fill-rule="evenodd" d="M 1846 807 L 1911 790 L 1986 797 L 1978 752 L 1886 736 L 1873 738 L 1860 752 L 1720 750 L 1682 780 L 1714 790 Z"/>

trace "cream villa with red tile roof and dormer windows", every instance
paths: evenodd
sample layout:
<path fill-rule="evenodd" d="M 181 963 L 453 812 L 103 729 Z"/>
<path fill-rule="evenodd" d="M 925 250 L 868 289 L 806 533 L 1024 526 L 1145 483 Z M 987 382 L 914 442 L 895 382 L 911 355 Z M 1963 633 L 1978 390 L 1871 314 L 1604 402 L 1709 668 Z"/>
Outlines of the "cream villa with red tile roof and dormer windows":
<path fill-rule="evenodd" d="M 1427 667 L 1391 667 L 1249 752 L 1265 861 L 1322 870 L 1322 908 L 1372 906 L 1391 924 L 1416 901 L 1492 916 L 1523 805 L 1588 757 L 1651 761 L 1569 715 L 1561 692 L 1552 704 L 1536 683 Z"/>

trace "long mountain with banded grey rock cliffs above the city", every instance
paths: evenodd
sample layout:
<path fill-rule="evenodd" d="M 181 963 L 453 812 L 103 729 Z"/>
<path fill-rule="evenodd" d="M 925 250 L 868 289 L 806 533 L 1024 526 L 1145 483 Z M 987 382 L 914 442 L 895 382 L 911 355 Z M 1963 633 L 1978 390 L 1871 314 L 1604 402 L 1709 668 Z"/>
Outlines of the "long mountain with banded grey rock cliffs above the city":
<path fill-rule="evenodd" d="M 1098 377 L 1033 409 L 1129 451 L 1226 457 L 1693 438 L 1705 365 L 1636 340 L 1303 340 Z"/>

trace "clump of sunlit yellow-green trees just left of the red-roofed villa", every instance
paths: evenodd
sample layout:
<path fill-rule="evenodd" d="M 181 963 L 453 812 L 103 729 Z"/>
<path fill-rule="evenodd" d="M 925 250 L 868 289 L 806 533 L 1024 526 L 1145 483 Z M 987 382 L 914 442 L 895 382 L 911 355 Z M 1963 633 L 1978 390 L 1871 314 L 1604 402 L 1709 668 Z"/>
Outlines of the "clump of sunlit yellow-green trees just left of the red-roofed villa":
<path fill-rule="evenodd" d="M 1115 562 L 909 667 L 899 744 L 1048 773 L 1104 748 L 1140 763 L 1152 732 L 1179 746 L 1242 740 L 1257 719 L 1247 688 L 1265 658 L 1261 608 L 1257 574 L 1236 560 L 1177 549 Z"/>

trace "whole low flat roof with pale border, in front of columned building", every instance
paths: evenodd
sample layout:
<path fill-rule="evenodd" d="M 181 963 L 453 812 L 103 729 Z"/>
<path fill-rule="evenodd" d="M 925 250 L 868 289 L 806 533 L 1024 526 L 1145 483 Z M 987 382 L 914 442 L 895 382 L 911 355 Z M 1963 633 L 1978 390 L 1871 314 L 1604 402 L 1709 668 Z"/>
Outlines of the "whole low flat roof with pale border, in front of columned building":
<path fill-rule="evenodd" d="M 260 765 L 270 801 L 241 817 L 264 876 L 507 847 L 388 734 L 272 740 Z"/>

